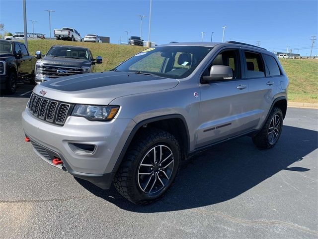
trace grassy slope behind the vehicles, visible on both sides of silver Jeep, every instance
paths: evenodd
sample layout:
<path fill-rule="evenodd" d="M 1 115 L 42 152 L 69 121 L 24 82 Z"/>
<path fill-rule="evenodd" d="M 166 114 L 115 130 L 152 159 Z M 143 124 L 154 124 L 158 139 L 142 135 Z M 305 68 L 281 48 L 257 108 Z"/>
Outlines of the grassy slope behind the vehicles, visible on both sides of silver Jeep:
<path fill-rule="evenodd" d="M 31 55 L 40 50 L 47 52 L 52 45 L 75 45 L 88 47 L 93 57 L 101 56 L 102 64 L 96 64 L 97 71 L 107 71 L 120 62 L 146 49 L 140 46 L 98 44 L 57 40 L 29 40 Z M 318 103 L 318 60 L 279 59 L 290 81 L 288 100 L 294 102 Z"/>

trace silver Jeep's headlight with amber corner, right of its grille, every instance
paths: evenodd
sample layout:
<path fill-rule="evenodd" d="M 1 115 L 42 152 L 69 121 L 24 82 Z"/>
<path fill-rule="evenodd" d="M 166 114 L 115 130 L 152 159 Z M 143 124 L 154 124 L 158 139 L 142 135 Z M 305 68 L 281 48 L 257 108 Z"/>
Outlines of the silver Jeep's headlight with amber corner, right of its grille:
<path fill-rule="evenodd" d="M 106 121 L 114 119 L 118 110 L 119 106 L 76 105 L 72 116 L 84 117 L 92 121 Z"/>

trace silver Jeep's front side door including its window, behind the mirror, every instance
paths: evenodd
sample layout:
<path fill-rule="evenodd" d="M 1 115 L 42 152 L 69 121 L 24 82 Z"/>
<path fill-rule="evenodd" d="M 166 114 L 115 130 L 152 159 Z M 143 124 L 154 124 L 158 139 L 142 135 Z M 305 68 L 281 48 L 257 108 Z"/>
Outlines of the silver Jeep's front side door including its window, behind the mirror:
<path fill-rule="evenodd" d="M 226 65 L 234 79 L 200 84 L 201 103 L 196 148 L 224 140 L 250 130 L 248 81 L 244 79 L 240 48 L 221 50 L 203 75 L 209 75 L 212 65 Z"/>

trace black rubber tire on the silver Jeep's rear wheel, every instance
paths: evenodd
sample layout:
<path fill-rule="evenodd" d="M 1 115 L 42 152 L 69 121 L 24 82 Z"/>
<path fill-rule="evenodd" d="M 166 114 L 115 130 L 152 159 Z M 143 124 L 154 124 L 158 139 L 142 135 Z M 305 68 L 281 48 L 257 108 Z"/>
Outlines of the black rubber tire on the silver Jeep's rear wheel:
<path fill-rule="evenodd" d="M 271 132 L 271 122 L 274 117 L 279 117 L 280 123 L 277 127 L 278 133 L 275 138 L 275 140 L 271 141 L 269 139 L 269 132 Z M 259 148 L 259 149 L 269 149 L 274 147 L 274 145 L 277 143 L 281 132 L 283 128 L 283 113 L 282 110 L 278 107 L 273 107 L 271 113 L 269 114 L 265 124 L 263 125 L 262 129 L 252 137 L 253 143 Z"/>

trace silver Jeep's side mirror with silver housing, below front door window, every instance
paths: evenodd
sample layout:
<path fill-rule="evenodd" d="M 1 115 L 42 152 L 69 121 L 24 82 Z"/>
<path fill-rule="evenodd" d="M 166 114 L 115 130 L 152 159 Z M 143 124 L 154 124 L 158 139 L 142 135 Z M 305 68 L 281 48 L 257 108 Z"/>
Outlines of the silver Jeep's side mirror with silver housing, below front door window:
<path fill-rule="evenodd" d="M 214 65 L 211 67 L 210 76 L 203 76 L 201 83 L 206 84 L 214 81 L 227 81 L 233 79 L 233 71 L 229 66 Z"/>

